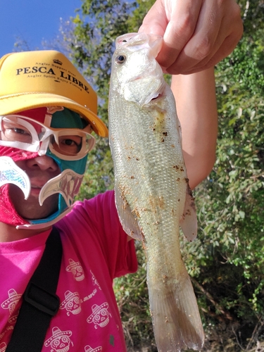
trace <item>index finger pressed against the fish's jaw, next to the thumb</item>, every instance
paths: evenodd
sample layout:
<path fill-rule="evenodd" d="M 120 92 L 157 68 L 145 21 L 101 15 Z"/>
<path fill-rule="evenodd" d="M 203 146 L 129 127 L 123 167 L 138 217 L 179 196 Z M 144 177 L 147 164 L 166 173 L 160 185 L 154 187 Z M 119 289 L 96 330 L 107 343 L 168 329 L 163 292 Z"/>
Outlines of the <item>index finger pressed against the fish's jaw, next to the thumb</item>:
<path fill-rule="evenodd" d="M 169 2 L 169 1 L 168 1 Z M 165 8 L 169 20 L 163 37 L 163 47 L 157 61 L 168 68 L 177 60 L 196 28 L 202 0 L 171 1 L 172 8 Z M 170 3 L 170 4 L 171 4 Z"/>

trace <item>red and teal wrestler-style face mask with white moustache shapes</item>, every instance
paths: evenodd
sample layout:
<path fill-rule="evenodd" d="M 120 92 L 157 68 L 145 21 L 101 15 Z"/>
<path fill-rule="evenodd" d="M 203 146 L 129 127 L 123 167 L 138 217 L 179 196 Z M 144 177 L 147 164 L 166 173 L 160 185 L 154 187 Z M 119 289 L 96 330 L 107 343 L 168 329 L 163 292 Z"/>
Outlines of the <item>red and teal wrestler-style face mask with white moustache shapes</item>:
<path fill-rule="evenodd" d="M 40 229 L 68 213 L 82 182 L 87 153 L 94 146 L 94 137 L 88 131 L 80 115 L 67 108 L 37 108 L 1 117 L 0 221 L 17 228 Z M 46 198 L 57 193 L 58 210 L 44 219 L 23 219 L 9 199 L 8 186 L 18 186 L 27 199 L 31 185 L 15 162 L 42 155 L 53 158 L 61 173 L 44 184 L 39 204 L 42 206 Z"/>

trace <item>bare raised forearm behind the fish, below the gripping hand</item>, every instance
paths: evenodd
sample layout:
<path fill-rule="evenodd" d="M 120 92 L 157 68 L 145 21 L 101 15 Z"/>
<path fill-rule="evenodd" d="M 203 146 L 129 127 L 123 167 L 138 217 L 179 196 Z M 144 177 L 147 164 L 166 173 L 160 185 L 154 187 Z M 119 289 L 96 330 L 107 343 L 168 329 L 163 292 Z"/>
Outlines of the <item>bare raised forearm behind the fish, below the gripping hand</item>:
<path fill-rule="evenodd" d="M 218 113 L 213 68 L 192 75 L 174 75 L 171 87 L 182 126 L 189 184 L 194 189 L 215 163 Z"/>

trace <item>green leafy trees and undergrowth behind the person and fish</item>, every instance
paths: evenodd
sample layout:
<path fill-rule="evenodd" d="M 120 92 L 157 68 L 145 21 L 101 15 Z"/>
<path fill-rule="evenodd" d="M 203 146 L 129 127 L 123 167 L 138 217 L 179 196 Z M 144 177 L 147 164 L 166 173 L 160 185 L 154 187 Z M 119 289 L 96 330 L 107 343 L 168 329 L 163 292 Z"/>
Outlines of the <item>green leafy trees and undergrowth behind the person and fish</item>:
<path fill-rule="evenodd" d="M 107 124 L 108 82 L 115 38 L 136 32 L 153 1 L 82 0 L 65 50 L 99 94 Z M 264 3 L 241 0 L 244 37 L 215 68 L 219 134 L 215 168 L 195 191 L 198 239 L 182 239 L 206 332 L 203 351 L 262 351 L 264 341 L 263 162 Z M 66 28 L 66 30 L 65 30 Z M 80 198 L 113 187 L 107 139 L 89 154 Z M 149 316 L 144 253 L 139 271 L 115 282 L 129 351 L 156 351 Z"/>

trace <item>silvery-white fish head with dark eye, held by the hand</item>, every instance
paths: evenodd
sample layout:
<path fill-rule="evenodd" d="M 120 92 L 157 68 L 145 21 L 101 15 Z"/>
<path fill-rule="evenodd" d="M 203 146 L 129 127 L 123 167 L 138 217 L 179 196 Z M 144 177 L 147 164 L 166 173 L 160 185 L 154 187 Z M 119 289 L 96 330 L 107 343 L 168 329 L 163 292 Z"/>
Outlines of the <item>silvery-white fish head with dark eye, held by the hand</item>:
<path fill-rule="evenodd" d="M 144 106 L 164 89 L 164 78 L 156 56 L 163 38 L 154 34 L 128 33 L 115 40 L 111 89 L 126 101 Z"/>

